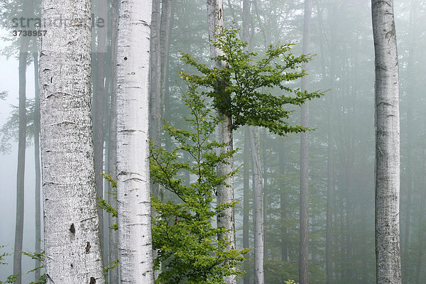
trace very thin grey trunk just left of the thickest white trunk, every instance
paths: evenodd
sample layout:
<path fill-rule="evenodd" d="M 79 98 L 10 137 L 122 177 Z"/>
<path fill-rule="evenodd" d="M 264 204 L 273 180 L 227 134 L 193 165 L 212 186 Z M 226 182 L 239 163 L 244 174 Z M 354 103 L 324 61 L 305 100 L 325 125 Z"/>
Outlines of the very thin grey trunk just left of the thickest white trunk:
<path fill-rule="evenodd" d="M 38 84 L 38 53 L 34 58 L 34 165 L 35 165 L 35 253 L 40 253 L 40 86 Z M 40 261 L 35 261 L 35 268 L 40 267 Z M 34 280 L 40 279 L 40 271 L 35 271 Z"/>

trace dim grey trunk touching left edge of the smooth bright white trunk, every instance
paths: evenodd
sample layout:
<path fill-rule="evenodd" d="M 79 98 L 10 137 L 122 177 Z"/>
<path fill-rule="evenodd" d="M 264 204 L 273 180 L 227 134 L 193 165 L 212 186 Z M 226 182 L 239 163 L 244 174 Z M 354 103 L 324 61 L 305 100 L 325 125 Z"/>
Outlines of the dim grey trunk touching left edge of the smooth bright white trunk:
<path fill-rule="evenodd" d="M 111 1 L 111 110 L 109 111 L 109 138 L 107 151 L 107 168 L 111 178 L 116 180 L 116 53 L 117 53 L 117 30 L 119 26 L 119 1 Z M 109 192 L 113 190 L 108 187 Z M 112 207 L 118 208 L 117 200 L 111 193 L 108 194 L 108 202 Z M 117 218 L 108 215 L 109 224 L 109 263 L 114 263 L 119 259 L 119 234 L 118 231 L 110 229 L 111 226 L 117 224 Z M 109 270 L 109 283 L 119 283 L 119 267 Z"/>

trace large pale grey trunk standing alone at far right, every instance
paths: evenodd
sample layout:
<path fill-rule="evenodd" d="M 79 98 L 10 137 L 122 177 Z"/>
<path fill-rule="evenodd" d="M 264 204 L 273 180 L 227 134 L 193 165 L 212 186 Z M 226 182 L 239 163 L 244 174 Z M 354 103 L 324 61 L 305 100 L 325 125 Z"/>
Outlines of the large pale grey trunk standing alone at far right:
<path fill-rule="evenodd" d="M 372 0 L 376 60 L 376 280 L 400 284 L 400 122 L 392 0 Z"/>

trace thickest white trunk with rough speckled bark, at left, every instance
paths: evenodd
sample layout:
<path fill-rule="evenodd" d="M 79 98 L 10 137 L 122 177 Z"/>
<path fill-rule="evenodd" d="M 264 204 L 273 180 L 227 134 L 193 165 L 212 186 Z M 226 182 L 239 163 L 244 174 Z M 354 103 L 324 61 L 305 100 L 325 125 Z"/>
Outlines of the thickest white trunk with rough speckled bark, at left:
<path fill-rule="evenodd" d="M 40 130 L 48 284 L 104 283 L 91 108 L 91 1 L 44 0 Z M 49 21 L 62 17 L 62 25 Z M 65 19 L 67 19 L 65 23 Z"/>

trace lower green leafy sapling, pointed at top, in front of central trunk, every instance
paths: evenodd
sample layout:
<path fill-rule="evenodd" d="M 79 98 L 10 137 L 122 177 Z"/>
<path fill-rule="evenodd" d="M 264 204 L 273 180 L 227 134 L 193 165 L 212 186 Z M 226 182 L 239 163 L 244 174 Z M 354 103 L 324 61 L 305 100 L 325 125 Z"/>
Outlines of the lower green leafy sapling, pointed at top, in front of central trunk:
<path fill-rule="evenodd" d="M 180 203 L 161 202 L 153 199 L 153 249 L 158 251 L 155 269 L 163 263 L 158 283 L 224 283 L 225 275 L 241 274 L 234 267 L 244 260 L 247 250 L 226 250 L 226 242 L 218 241 L 217 235 L 226 231 L 214 228 L 212 219 L 225 208 L 235 203 L 213 206 L 214 191 L 229 175 L 218 176 L 218 163 L 236 151 L 217 154 L 221 143 L 210 140 L 219 123 L 217 116 L 210 114 L 205 100 L 200 98 L 197 86 L 190 84 L 183 99 L 190 109 L 191 118 L 184 117 L 192 131 L 176 129 L 165 122 L 165 129 L 177 142 L 173 151 L 158 146 L 151 147 L 151 179 L 173 192 Z M 182 161 L 182 153 L 188 153 L 191 162 Z M 185 184 L 183 171 L 189 171 L 194 182 Z"/>

